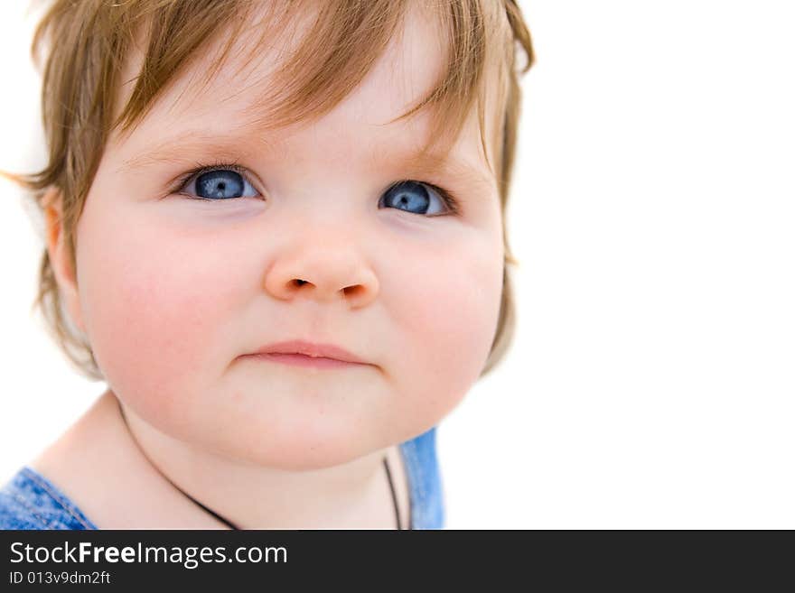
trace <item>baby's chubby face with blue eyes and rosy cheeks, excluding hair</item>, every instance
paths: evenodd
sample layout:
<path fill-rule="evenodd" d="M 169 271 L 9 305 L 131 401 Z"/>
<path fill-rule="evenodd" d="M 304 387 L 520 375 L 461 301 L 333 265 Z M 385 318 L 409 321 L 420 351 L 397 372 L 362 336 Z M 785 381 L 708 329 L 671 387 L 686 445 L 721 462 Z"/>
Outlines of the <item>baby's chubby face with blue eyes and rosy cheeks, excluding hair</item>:
<path fill-rule="evenodd" d="M 451 153 L 471 174 L 400 164 L 428 119 L 383 124 L 442 68 L 435 26 L 408 23 L 317 124 L 241 125 L 276 59 L 264 53 L 203 94 L 192 70 L 129 138 L 111 139 L 77 229 L 76 316 L 108 385 L 155 428 L 234 459 L 320 468 L 426 431 L 480 375 L 500 308 L 500 199 L 474 115 Z M 191 132 L 208 142 L 179 140 Z M 167 161 L 147 160 L 167 143 Z M 237 170 L 180 182 L 236 158 Z M 245 356 L 294 339 L 369 364 Z"/>

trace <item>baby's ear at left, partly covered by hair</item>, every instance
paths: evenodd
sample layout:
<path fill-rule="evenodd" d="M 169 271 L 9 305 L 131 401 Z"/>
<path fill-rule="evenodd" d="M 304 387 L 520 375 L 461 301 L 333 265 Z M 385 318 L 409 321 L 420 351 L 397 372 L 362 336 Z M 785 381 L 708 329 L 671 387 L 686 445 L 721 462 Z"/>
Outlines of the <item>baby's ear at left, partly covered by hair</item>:
<path fill-rule="evenodd" d="M 45 190 L 42 197 L 44 208 L 44 238 L 47 243 L 47 252 L 50 256 L 50 265 L 55 280 L 58 282 L 61 301 L 69 312 L 70 320 L 85 333 L 75 273 L 63 240 L 61 191 L 51 186 Z"/>

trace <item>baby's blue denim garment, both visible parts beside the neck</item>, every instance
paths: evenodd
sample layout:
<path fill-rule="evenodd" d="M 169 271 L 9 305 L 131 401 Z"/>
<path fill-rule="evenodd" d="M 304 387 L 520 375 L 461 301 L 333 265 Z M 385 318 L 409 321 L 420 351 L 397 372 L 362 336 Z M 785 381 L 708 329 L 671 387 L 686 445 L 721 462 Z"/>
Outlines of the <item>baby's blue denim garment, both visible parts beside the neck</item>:
<path fill-rule="evenodd" d="M 400 443 L 412 529 L 443 529 L 444 495 L 436 461 L 436 429 Z M 61 490 L 23 466 L 0 489 L 0 529 L 98 529 Z"/>

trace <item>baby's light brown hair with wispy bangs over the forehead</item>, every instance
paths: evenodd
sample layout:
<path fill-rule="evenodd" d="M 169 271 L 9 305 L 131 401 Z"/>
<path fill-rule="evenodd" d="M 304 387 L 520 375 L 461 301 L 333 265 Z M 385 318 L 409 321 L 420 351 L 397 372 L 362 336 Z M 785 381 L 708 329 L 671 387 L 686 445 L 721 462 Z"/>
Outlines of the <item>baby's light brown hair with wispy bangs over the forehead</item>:
<path fill-rule="evenodd" d="M 30 192 L 38 211 L 48 206 L 48 188 L 61 195 L 61 232 L 71 270 L 76 271 L 75 228 L 82 213 L 108 136 L 119 125 L 121 133 L 138 125 L 212 40 L 228 32 L 229 43 L 214 60 L 205 82 L 210 82 L 229 57 L 232 43 L 256 8 L 267 5 L 276 17 L 275 30 L 301 14 L 307 3 L 319 6 L 312 28 L 304 35 L 292 60 L 276 72 L 271 86 L 276 97 L 258 104 L 272 106 L 262 123 L 274 128 L 320 118 L 332 111 L 369 73 L 388 42 L 399 29 L 411 0 L 312 0 L 257 2 L 256 0 L 54 0 L 33 34 L 31 55 L 42 78 L 42 123 L 49 148 L 49 162 L 42 171 L 0 175 Z M 505 246 L 500 316 L 491 352 L 482 369 L 486 375 L 503 358 L 515 329 L 515 309 L 510 264 L 518 264 L 510 252 L 505 208 L 513 170 L 521 93 L 516 68 L 517 45 L 526 54 L 525 73 L 534 60 L 528 28 L 513 0 L 435 0 L 434 8 L 446 26 L 448 56 L 435 88 L 406 114 L 432 109 L 431 145 L 444 142 L 448 151 L 458 137 L 476 102 L 481 144 L 488 162 L 484 137 L 485 92 L 488 74 L 498 80 L 498 113 L 494 138 L 497 155 L 495 178 L 500 192 Z M 273 14 L 269 14 L 269 17 Z M 134 47 L 136 33 L 148 26 L 145 57 L 135 88 L 120 116 L 113 120 L 117 89 L 124 60 Z M 260 42 L 265 42 L 265 34 Z M 257 44 L 248 60 L 257 53 Z M 248 63 L 248 61 L 247 61 Z M 279 91 L 284 93 L 279 96 Z M 494 169 L 489 162 L 492 173 Z M 77 278 L 76 273 L 74 277 Z M 40 307 L 45 326 L 64 354 L 90 379 L 103 379 L 88 339 L 76 329 L 64 311 L 58 283 L 45 248 L 39 267 L 38 294 L 33 308 Z"/>

